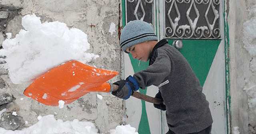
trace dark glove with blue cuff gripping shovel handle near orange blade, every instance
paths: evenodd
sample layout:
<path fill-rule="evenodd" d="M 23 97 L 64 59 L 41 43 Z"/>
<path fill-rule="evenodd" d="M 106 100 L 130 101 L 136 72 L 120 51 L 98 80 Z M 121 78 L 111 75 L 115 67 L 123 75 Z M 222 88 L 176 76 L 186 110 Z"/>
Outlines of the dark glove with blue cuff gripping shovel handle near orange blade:
<path fill-rule="evenodd" d="M 112 95 L 127 100 L 134 93 L 129 83 L 125 80 L 116 81 L 113 83 L 114 85 L 118 85 L 117 91 L 112 92 Z"/>

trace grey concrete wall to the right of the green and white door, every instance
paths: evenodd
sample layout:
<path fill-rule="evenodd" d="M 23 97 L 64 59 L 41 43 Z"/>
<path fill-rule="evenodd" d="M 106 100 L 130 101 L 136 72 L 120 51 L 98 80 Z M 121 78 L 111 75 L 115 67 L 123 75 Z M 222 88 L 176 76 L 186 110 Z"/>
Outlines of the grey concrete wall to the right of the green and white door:
<path fill-rule="evenodd" d="M 253 8 L 256 8 L 255 0 L 226 1 L 230 37 L 230 127 L 233 134 L 236 126 L 240 134 L 256 134 L 256 106 L 249 103 L 256 97 L 256 55 L 249 53 L 256 49 L 256 44 L 255 38 L 244 32 L 245 22 L 256 17 Z M 246 49 L 246 43 L 253 47 Z"/>

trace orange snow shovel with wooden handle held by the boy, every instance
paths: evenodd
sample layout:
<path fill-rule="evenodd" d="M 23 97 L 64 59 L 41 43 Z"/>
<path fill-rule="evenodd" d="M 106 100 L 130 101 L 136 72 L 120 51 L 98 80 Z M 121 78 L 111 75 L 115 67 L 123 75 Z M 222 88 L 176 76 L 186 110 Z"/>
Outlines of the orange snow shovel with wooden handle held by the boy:
<path fill-rule="evenodd" d="M 49 106 L 58 106 L 60 100 L 69 104 L 90 92 L 116 91 L 117 85 L 107 83 L 116 75 L 116 71 L 68 61 L 36 78 L 25 89 L 24 95 Z M 139 92 L 134 92 L 132 96 L 154 104 L 162 102 Z"/>

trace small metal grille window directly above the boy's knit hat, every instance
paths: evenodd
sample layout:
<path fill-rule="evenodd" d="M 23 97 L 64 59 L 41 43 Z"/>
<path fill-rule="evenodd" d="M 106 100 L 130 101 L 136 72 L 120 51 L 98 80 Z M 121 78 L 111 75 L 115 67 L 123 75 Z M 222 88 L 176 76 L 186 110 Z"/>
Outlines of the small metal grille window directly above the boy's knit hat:
<path fill-rule="evenodd" d="M 155 0 L 126 0 L 126 24 L 132 20 L 143 20 L 154 24 Z"/>

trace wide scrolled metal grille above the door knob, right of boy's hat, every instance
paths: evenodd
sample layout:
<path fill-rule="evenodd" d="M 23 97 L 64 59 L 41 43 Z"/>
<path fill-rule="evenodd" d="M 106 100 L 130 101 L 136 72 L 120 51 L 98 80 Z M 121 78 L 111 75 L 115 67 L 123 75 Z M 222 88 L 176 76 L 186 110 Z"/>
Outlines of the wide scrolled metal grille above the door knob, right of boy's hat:
<path fill-rule="evenodd" d="M 166 38 L 220 38 L 220 0 L 165 0 Z"/>

